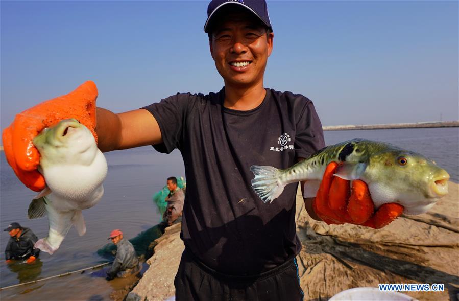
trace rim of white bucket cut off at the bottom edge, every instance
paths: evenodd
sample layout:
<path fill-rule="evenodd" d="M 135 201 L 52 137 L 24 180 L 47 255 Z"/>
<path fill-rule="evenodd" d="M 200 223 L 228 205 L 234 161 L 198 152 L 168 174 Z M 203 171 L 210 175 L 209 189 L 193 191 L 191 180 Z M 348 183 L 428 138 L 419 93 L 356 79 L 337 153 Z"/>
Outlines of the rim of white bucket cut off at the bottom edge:
<path fill-rule="evenodd" d="M 398 292 L 381 292 L 376 287 L 357 287 L 337 293 L 328 301 L 418 301 Z"/>

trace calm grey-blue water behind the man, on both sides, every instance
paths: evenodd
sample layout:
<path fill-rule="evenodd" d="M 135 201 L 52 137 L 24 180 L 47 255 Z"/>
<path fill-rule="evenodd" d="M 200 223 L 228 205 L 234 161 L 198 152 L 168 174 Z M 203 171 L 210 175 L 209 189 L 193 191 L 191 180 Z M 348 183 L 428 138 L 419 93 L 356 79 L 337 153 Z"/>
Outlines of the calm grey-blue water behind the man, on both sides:
<path fill-rule="evenodd" d="M 327 131 L 326 143 L 334 144 L 351 138 L 368 138 L 389 142 L 417 151 L 437 161 L 459 182 L 459 128 L 391 129 L 359 131 Z M 27 209 L 35 195 L 19 182 L 0 153 L 0 228 L 17 221 L 33 229 L 41 238 L 47 235 L 47 220 L 28 220 Z M 105 262 L 96 251 L 107 243 L 114 228 L 127 238 L 157 224 L 159 213 L 152 195 L 160 190 L 168 176 L 184 176 L 183 161 L 178 151 L 159 154 L 151 147 L 106 153 L 109 164 L 104 182 L 105 195 L 100 203 L 83 211 L 86 234 L 79 237 L 71 228 L 59 250 L 50 256 L 42 252 L 33 265 L 8 266 L 4 263 L 8 234 L 0 231 L 0 287 L 49 277 Z M 125 286 L 123 280 L 107 282 L 84 274 L 39 282 L 0 291 L 2 300 L 103 300 L 113 289 Z"/>

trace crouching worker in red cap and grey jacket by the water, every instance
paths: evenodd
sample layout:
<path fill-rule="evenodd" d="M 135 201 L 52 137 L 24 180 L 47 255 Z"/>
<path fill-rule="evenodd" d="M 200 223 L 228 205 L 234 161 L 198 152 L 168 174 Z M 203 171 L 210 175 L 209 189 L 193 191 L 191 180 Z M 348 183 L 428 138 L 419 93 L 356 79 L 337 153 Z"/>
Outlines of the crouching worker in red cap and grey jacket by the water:
<path fill-rule="evenodd" d="M 134 246 L 123 238 L 123 232 L 120 229 L 115 229 L 111 231 L 108 239 L 116 245 L 117 250 L 115 260 L 107 271 L 107 280 L 137 273 L 140 270 L 139 260 L 135 254 Z"/>

